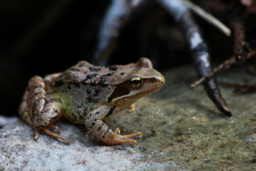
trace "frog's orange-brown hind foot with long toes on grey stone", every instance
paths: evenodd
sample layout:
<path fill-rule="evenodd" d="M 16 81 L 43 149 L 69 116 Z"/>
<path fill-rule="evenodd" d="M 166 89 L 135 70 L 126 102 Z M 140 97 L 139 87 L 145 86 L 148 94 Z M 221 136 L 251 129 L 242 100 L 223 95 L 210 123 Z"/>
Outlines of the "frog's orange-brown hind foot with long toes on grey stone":
<path fill-rule="evenodd" d="M 56 129 L 56 130 L 57 130 L 57 133 L 59 133 L 59 128 L 58 128 L 58 126 L 51 125 L 51 126 L 49 126 L 49 127 Z M 65 137 L 59 136 L 58 134 L 55 134 L 55 133 L 51 132 L 50 130 L 47 129 L 47 127 L 40 128 L 40 129 L 35 128 L 35 137 L 34 137 L 34 140 L 35 140 L 35 141 L 36 141 L 36 140 L 39 138 L 39 136 L 40 136 L 39 131 L 44 132 L 46 135 L 48 135 L 48 136 L 50 136 L 50 137 L 52 137 L 52 138 L 54 138 L 54 139 L 56 139 L 56 140 L 58 140 L 58 139 L 64 140 L 65 143 L 66 143 L 66 145 L 69 145 L 69 144 L 70 144 L 69 141 L 68 141 Z"/>

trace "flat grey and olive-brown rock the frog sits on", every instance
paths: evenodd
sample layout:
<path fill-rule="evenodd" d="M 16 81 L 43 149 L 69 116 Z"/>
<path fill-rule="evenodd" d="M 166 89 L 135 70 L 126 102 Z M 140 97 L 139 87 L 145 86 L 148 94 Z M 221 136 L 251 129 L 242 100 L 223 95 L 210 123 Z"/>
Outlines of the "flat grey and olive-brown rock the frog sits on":
<path fill-rule="evenodd" d="M 255 169 L 256 93 L 221 87 L 233 114 L 221 114 L 196 80 L 192 67 L 164 73 L 166 84 L 138 101 L 137 111 L 122 111 L 105 122 L 122 134 L 137 131 L 139 146 L 104 145 L 86 135 L 83 125 L 56 122 L 70 145 L 34 132 L 19 120 L 0 130 L 0 170 L 253 170 Z M 223 82 L 256 84 L 242 69 L 218 75 Z"/>

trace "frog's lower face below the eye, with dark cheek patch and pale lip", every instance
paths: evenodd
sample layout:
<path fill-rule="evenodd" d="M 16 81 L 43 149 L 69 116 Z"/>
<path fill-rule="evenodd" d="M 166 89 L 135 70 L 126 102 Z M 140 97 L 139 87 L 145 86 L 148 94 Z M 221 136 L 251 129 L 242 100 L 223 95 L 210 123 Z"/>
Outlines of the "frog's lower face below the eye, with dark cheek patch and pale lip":
<path fill-rule="evenodd" d="M 108 102 L 120 100 L 122 98 L 138 99 L 145 95 L 158 91 L 164 84 L 164 77 L 144 78 L 142 86 L 131 89 L 127 81 L 117 85 L 112 95 L 108 98 Z"/>

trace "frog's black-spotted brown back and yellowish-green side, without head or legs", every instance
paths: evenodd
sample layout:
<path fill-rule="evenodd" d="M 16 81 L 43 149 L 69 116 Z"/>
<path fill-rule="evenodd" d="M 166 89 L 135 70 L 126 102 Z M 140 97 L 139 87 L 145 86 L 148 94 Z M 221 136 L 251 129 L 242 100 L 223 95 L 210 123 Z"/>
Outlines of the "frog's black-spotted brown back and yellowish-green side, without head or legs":
<path fill-rule="evenodd" d="M 115 87 L 136 66 L 99 67 L 87 61 L 60 74 L 51 84 L 57 87 L 62 100 L 63 116 L 74 123 L 84 123 L 86 115 L 101 104 L 109 103 Z"/>

